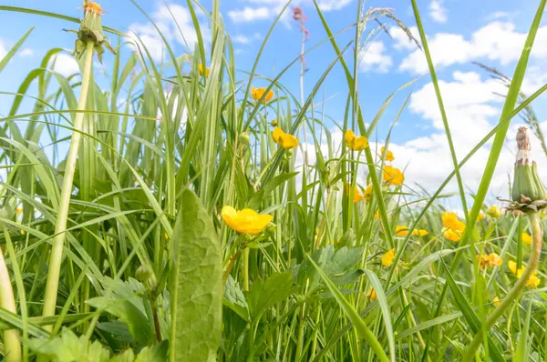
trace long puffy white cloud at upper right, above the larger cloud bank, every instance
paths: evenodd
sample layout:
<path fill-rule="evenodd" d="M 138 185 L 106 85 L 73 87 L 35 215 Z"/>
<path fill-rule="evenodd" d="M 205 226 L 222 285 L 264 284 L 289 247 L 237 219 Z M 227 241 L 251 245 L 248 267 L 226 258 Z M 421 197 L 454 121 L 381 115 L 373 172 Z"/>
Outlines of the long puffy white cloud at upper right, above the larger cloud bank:
<path fill-rule="evenodd" d="M 507 65 L 519 58 L 526 39 L 525 33 L 515 31 L 515 25 L 508 22 L 492 22 L 477 30 L 470 39 L 463 35 L 438 33 L 428 39 L 429 49 L 434 65 L 438 67 L 467 63 L 471 60 L 488 58 Z M 547 56 L 547 26 L 538 30 L 532 56 L 544 58 Z M 415 50 L 408 55 L 399 70 L 418 74 L 428 73 L 426 57 L 421 50 Z"/>

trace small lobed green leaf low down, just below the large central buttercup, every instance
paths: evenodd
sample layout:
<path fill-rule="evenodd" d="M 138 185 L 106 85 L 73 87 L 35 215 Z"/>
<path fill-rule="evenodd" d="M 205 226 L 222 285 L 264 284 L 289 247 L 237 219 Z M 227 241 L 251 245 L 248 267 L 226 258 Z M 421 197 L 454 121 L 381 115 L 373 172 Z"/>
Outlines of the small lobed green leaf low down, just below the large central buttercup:
<path fill-rule="evenodd" d="M 253 322 L 256 322 L 266 309 L 274 307 L 293 294 L 295 288 L 292 274 L 290 271 L 274 273 L 265 281 L 257 278 L 253 282 L 247 296 Z"/>

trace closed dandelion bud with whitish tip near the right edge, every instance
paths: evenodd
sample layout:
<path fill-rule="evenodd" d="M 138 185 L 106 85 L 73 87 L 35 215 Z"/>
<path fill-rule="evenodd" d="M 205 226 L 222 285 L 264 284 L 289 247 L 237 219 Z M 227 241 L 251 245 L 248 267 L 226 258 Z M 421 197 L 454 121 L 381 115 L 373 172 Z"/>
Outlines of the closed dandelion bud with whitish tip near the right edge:
<path fill-rule="evenodd" d="M 538 176 L 538 166 L 531 158 L 530 139 L 526 127 L 520 127 L 517 133 L 517 160 L 515 162 L 511 198 L 516 202 L 544 200 L 545 187 Z"/>

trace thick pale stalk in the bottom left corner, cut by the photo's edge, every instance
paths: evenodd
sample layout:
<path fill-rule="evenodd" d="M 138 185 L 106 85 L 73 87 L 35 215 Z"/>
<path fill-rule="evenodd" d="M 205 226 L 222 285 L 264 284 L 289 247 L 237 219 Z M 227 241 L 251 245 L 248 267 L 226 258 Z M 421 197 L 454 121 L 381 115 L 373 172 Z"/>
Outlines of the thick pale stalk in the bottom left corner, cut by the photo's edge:
<path fill-rule="evenodd" d="M 0 248 L 0 307 L 5 310 L 17 313 L 15 307 L 14 290 L 5 265 L 4 254 Z M 4 337 L 4 360 L 5 362 L 21 361 L 21 342 L 19 341 L 19 331 L 17 329 L 5 329 Z"/>

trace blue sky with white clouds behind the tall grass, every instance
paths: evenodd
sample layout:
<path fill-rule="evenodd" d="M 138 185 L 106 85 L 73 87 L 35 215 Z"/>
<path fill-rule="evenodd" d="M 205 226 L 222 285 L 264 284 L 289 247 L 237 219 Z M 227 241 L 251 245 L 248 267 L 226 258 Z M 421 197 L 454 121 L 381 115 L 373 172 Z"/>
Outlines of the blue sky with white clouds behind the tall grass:
<path fill-rule="evenodd" d="M 357 0 L 317 0 L 325 11 L 325 17 L 334 32 L 346 28 L 356 22 Z M 143 36 L 146 44 L 155 52 L 158 60 L 161 57 L 161 44 L 139 9 L 128 0 L 103 0 L 100 2 L 108 14 L 103 16 L 103 24 L 120 31 L 136 31 Z M 237 67 L 250 70 L 253 60 L 273 24 L 274 17 L 284 5 L 285 0 L 222 0 L 221 10 L 228 33 L 232 36 L 237 55 Z M 498 121 L 502 98 L 493 92 L 504 92 L 503 86 L 491 80 L 472 61 L 480 61 L 500 69 L 511 75 L 521 53 L 521 47 L 538 1 L 524 0 L 518 7 L 513 1 L 462 1 L 462 0 L 418 0 L 422 21 L 429 38 L 429 46 L 434 61 L 437 64 L 441 81 L 441 92 L 447 105 L 450 126 L 453 128 L 454 140 L 459 149 L 459 157 L 465 156 L 480 138 L 485 135 Z M 54 13 L 80 17 L 78 0 L 2 0 L 1 5 L 32 7 Z M 181 54 L 187 52 L 181 38 L 175 31 L 169 13 L 162 1 L 138 1 L 143 10 L 165 30 L 170 37 L 171 45 Z M 191 31 L 191 23 L 186 1 L 170 1 L 171 11 L 177 16 L 187 40 L 195 38 Z M 307 16 L 306 28 L 310 32 L 306 47 L 309 48 L 325 40 L 325 30 L 315 12 L 312 0 L 294 1 L 293 5 L 301 5 Z M 207 10 L 211 10 L 211 0 L 201 2 Z M 289 10 L 292 6 L 289 7 Z M 365 8 L 388 7 L 393 10 L 404 24 L 411 29 L 415 25 L 410 2 L 402 0 L 369 1 Z M 167 14 L 167 15 L 166 15 Z M 2 13 L 0 22 L 0 58 L 6 50 L 15 44 L 28 28 L 36 25 L 24 49 L 15 57 L 5 71 L 0 74 L 0 90 L 13 90 L 33 68 L 39 66 L 46 51 L 53 47 L 71 49 L 74 45 L 74 35 L 62 31 L 63 28 L 77 28 L 61 20 L 36 15 Z M 377 139 L 380 142 L 387 136 L 387 130 L 397 115 L 406 97 L 412 92 L 408 107 L 402 113 L 395 127 L 390 148 L 397 159 L 395 164 L 407 167 L 409 182 L 420 183 L 426 187 L 438 186 L 451 170 L 446 136 L 442 129 L 439 109 L 432 92 L 432 86 L 425 67 L 425 57 L 416 45 L 408 43 L 406 37 L 397 29 L 395 23 L 383 18 L 389 30 L 390 38 L 378 32 L 365 45 L 359 63 L 359 93 L 360 104 L 365 110 L 366 121 L 370 121 L 377 113 L 384 100 L 399 86 L 420 77 L 418 81 L 400 93 L 387 109 L 382 122 L 378 126 Z M 205 15 L 200 15 L 204 35 L 209 34 Z M 524 84 L 524 91 L 531 94 L 547 82 L 547 20 L 542 22 L 538 33 L 536 46 L 532 51 L 529 72 Z M 365 35 L 377 25 L 369 22 Z M 354 29 L 339 35 L 339 45 L 346 45 L 354 35 Z M 112 38 L 112 43 L 118 39 Z M 274 33 L 264 50 L 258 73 L 274 76 L 277 71 L 288 65 L 300 50 L 301 33 L 289 15 L 274 29 Z M 129 46 L 123 48 L 125 56 L 129 55 Z M 346 59 L 351 59 L 353 48 L 348 49 Z M 320 45 L 305 60 L 308 72 L 304 78 L 304 95 L 309 95 L 315 81 L 323 74 L 325 68 L 333 61 L 335 53 L 330 44 Z M 75 72 L 77 68 L 69 55 L 60 59 L 57 71 L 63 74 Z M 107 56 L 105 68 L 111 65 Z M 239 75 L 244 79 L 244 75 Z M 299 94 L 299 65 L 284 75 L 282 83 L 288 86 L 295 95 Z M 267 85 L 257 82 L 255 85 Z M 325 94 L 330 100 L 325 106 L 326 113 L 336 121 L 342 121 L 346 104 L 346 78 L 341 66 L 336 65 L 328 75 L 325 85 L 316 98 L 321 100 Z M 536 112 L 543 121 L 545 106 L 537 102 Z M 544 99 L 543 99 L 544 103 Z M 0 98 L 0 115 L 5 114 L 9 99 Z M 515 119 L 513 128 L 520 120 Z M 334 127 L 333 127 L 334 128 Z M 512 128 L 510 133 L 512 132 Z M 339 142 L 339 136 L 335 140 Z M 338 137 L 338 138 L 336 138 Z M 375 136 L 376 137 L 376 136 Z M 508 147 L 501 158 L 499 170 L 492 184 L 493 193 L 505 194 L 507 172 L 513 162 L 514 147 L 511 144 L 513 135 L 508 137 Z M 535 142 L 532 140 L 532 143 Z M 547 169 L 537 152 L 540 165 Z M 464 170 L 466 182 L 471 189 L 478 185 L 484 159 L 488 156 L 489 146 L 483 147 L 478 156 Z M 547 172 L 543 174 L 547 176 Z"/>

